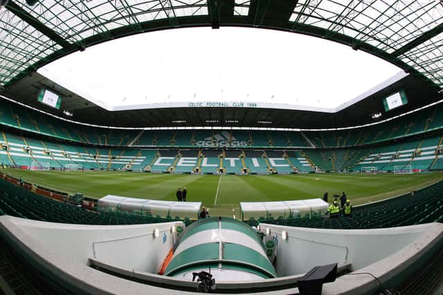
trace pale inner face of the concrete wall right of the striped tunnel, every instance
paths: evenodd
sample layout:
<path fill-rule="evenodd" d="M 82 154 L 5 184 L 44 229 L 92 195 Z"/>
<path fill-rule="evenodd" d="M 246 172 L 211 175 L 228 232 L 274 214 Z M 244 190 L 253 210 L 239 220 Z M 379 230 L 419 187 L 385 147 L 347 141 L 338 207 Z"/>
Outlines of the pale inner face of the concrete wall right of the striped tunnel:
<path fill-rule="evenodd" d="M 426 234 L 426 226 L 392 229 L 334 230 L 305 229 L 261 224 L 278 240 L 275 269 L 279 276 L 303 274 L 312 267 L 338 262 L 361 269 L 396 253 Z M 287 231 L 287 240 L 282 240 Z"/>

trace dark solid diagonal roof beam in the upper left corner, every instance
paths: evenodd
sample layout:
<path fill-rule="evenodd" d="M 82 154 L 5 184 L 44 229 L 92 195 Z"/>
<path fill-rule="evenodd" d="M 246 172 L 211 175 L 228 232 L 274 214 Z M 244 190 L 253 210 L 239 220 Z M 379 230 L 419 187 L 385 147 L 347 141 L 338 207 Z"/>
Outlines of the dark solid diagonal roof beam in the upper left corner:
<path fill-rule="evenodd" d="M 78 49 L 73 44 L 67 42 L 65 39 L 63 39 L 60 35 L 55 33 L 54 30 L 51 30 L 51 28 L 48 28 L 44 24 L 42 24 L 38 19 L 30 15 L 28 12 L 26 12 L 23 8 L 18 6 L 16 3 L 14 3 L 12 0 L 8 1 L 8 4 L 6 5 L 6 8 L 17 15 L 20 19 L 23 21 L 26 21 L 30 26 L 35 28 L 35 30 L 38 30 L 40 33 L 48 37 L 49 39 L 53 40 L 55 43 L 62 46 L 67 51 L 72 51 L 75 49 Z"/>

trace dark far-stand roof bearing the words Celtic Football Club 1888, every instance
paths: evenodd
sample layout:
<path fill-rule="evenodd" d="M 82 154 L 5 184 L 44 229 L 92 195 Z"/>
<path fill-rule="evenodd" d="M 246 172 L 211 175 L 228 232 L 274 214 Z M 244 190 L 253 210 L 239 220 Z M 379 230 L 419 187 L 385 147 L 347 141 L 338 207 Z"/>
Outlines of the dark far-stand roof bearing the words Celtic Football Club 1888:
<path fill-rule="evenodd" d="M 42 88 L 52 89 L 67 98 L 62 102 L 62 109 L 54 109 L 37 101 L 37 94 Z M 408 104 L 385 111 L 383 98 L 399 89 L 406 91 Z M 441 94 L 437 93 L 426 81 L 414 75 L 406 75 L 395 82 L 389 80 L 386 84 L 374 87 L 371 91 L 364 93 L 363 99 L 348 102 L 336 112 L 275 108 L 271 105 L 257 107 L 165 105 L 157 108 L 151 106 L 147 109 L 108 111 L 39 73 L 26 75 L 12 85 L 7 92 L 8 96 L 14 100 L 57 116 L 82 123 L 114 127 L 275 127 L 296 129 L 351 127 L 375 123 L 442 100 Z M 64 116 L 64 109 L 71 111 L 73 116 Z M 372 114 L 378 112 L 382 116 L 372 118 Z"/>

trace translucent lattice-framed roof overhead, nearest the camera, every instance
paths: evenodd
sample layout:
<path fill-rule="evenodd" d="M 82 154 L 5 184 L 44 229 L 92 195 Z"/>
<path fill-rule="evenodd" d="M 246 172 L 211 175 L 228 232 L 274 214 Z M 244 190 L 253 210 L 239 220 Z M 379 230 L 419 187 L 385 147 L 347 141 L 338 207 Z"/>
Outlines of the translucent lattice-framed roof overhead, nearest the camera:
<path fill-rule="evenodd" d="M 0 11 L 4 87 L 66 54 L 168 28 L 245 26 L 314 35 L 377 55 L 443 86 L 443 2 L 151 0 L 8 1 Z"/>

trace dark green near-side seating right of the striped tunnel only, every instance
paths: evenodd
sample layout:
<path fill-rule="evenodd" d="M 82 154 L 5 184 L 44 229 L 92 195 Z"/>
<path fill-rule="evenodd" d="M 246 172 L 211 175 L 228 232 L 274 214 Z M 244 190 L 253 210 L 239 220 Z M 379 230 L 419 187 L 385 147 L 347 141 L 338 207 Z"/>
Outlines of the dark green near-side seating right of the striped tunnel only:
<path fill-rule="evenodd" d="M 258 222 L 299 226 L 318 229 L 378 229 L 395 226 L 408 226 L 428 222 L 443 222 L 443 181 L 422 188 L 414 193 L 387 199 L 382 202 L 356 206 L 352 217 L 322 217 L 318 214 L 269 218 L 251 217 L 248 224 L 256 226 Z"/>

